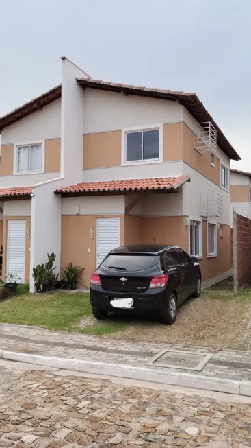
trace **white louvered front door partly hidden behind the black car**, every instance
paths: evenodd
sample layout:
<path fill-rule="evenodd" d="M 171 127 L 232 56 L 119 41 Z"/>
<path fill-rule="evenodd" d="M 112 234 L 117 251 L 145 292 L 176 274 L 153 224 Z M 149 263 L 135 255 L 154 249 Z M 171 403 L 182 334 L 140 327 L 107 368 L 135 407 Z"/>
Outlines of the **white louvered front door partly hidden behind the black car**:
<path fill-rule="evenodd" d="M 120 246 L 120 217 L 96 220 L 96 268 L 110 250 Z"/>

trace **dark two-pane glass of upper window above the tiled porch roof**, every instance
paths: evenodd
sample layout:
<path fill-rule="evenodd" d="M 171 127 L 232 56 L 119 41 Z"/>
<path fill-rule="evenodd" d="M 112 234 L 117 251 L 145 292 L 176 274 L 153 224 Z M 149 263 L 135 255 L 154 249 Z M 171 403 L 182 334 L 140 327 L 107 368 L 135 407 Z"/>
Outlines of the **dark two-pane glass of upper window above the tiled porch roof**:
<path fill-rule="evenodd" d="M 126 162 L 157 159 L 159 159 L 159 129 L 126 133 Z"/>

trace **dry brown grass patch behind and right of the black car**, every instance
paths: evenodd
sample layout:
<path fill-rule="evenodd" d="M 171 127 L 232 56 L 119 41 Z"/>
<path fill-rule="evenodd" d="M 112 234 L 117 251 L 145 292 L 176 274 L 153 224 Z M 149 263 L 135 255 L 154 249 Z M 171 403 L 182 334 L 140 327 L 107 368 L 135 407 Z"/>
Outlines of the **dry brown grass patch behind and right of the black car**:
<path fill-rule="evenodd" d="M 226 296 L 226 290 L 225 293 L 212 291 L 211 296 L 219 293 Z M 229 300 L 203 296 L 181 305 L 174 325 L 131 320 L 131 325 L 114 334 L 114 338 L 246 350 L 243 335 L 247 331 L 249 308 L 248 301 L 239 300 L 231 293 Z"/>

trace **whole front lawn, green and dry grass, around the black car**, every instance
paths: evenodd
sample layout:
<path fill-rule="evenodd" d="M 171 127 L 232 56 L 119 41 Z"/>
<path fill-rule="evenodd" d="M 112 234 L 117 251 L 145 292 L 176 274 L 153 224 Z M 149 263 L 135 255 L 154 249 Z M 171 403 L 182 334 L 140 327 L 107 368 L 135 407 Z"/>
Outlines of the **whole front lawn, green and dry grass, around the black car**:
<path fill-rule="evenodd" d="M 204 290 L 197 300 L 186 300 L 174 325 L 132 316 L 109 316 L 97 322 L 92 318 L 89 294 L 31 295 L 24 288 L 21 294 L 0 302 L 0 322 L 101 336 L 112 334 L 121 340 L 246 349 L 243 334 L 250 305 L 251 289 L 234 295 L 230 286 L 218 285 Z M 85 320 L 86 326 L 82 328 L 80 322 Z"/>

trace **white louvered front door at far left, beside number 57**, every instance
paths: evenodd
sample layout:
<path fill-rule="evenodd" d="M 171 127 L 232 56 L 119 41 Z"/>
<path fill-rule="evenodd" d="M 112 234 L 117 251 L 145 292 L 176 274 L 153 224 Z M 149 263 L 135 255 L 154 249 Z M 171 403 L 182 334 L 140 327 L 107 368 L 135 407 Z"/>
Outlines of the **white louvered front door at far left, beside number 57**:
<path fill-rule="evenodd" d="M 6 274 L 20 277 L 25 283 L 25 220 L 8 220 Z"/>

